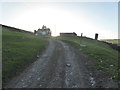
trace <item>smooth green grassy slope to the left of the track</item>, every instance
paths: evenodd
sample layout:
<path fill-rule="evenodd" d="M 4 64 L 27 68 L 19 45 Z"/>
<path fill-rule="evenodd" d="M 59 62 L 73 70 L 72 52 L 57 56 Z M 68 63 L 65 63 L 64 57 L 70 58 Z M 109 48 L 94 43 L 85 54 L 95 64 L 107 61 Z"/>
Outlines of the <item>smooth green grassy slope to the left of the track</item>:
<path fill-rule="evenodd" d="M 3 83 L 36 60 L 47 39 L 31 34 L 2 30 Z"/>

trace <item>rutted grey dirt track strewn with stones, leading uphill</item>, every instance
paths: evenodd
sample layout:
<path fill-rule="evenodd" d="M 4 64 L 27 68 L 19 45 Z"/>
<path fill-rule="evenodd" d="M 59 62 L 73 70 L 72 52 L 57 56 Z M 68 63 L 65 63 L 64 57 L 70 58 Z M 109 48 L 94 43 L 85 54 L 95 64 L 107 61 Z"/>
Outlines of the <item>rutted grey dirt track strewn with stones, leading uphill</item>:
<path fill-rule="evenodd" d="M 93 63 L 72 46 L 50 40 L 38 60 L 13 78 L 6 88 L 117 87 Z"/>

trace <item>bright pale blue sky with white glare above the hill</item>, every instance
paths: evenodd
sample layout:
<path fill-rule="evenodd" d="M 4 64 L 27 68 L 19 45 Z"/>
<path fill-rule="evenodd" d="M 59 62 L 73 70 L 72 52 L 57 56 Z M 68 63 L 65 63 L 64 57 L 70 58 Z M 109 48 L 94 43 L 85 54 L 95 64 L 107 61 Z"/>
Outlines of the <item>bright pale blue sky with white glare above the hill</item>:
<path fill-rule="evenodd" d="M 0 24 L 34 31 L 42 25 L 52 35 L 76 32 L 99 39 L 118 38 L 118 2 L 1 2 Z"/>

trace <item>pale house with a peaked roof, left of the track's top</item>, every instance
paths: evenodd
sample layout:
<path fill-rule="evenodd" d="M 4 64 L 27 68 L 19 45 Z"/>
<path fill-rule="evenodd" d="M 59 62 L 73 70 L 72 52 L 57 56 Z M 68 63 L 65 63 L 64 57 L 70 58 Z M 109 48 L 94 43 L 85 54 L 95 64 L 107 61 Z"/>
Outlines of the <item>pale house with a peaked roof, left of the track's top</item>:
<path fill-rule="evenodd" d="M 47 28 L 46 26 L 42 26 L 42 29 L 38 29 L 37 31 L 34 30 L 34 34 L 35 35 L 42 35 L 42 36 L 51 36 L 51 31 L 49 28 Z"/>

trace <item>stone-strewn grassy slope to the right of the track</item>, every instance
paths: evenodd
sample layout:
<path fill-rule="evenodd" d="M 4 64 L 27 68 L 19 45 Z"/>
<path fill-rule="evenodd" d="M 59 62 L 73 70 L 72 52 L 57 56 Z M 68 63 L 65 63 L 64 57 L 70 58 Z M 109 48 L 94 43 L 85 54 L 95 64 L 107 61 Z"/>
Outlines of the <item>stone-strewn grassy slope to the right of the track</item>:
<path fill-rule="evenodd" d="M 80 37 L 57 37 L 57 39 L 70 43 L 88 55 L 88 57 L 94 61 L 95 67 L 98 70 L 104 71 L 112 78 L 120 79 L 120 76 L 118 76 L 118 56 L 120 57 L 120 53 L 110 48 L 107 44 Z M 80 46 L 80 44 L 83 45 L 83 47 Z"/>

